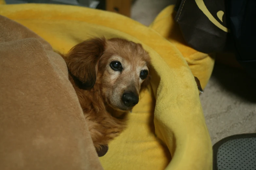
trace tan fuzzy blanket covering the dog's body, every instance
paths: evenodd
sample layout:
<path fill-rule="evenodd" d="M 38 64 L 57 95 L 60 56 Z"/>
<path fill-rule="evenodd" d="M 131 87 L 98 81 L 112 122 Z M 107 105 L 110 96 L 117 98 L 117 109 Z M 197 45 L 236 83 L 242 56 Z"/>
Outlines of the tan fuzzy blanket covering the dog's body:
<path fill-rule="evenodd" d="M 0 16 L 0 169 L 103 169 L 67 67 L 48 42 Z"/>

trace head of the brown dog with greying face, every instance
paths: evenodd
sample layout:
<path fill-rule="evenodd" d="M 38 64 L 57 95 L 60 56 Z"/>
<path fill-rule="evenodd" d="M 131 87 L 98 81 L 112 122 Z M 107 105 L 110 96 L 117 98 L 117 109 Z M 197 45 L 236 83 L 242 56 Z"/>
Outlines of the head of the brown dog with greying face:
<path fill-rule="evenodd" d="M 98 83 L 105 102 L 117 110 L 131 110 L 149 83 L 148 53 L 125 39 L 88 39 L 71 49 L 66 62 L 79 88 Z"/>

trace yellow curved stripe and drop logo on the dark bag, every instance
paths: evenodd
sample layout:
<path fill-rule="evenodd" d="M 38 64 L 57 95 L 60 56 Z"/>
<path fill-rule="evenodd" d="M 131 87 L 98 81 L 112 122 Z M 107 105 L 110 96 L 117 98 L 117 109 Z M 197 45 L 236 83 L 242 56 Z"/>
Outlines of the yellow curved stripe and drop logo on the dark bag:
<path fill-rule="evenodd" d="M 204 15 L 206 15 L 206 17 L 217 27 L 219 27 L 220 29 L 222 29 L 225 32 L 230 32 L 230 30 L 223 26 L 221 23 L 219 23 L 211 14 L 211 12 L 207 9 L 207 7 L 204 4 L 203 0 L 195 0 L 196 1 L 196 5 L 199 7 L 199 9 L 204 13 Z M 217 17 L 220 19 L 220 21 L 222 21 L 222 17 L 224 15 L 223 11 L 218 11 L 217 12 Z"/>

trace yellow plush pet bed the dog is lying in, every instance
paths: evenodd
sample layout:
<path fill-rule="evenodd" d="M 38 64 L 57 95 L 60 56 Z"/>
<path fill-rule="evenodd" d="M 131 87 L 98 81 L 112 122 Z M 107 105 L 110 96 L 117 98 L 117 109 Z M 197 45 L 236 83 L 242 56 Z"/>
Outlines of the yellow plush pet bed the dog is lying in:
<path fill-rule="evenodd" d="M 103 35 L 140 42 L 149 51 L 152 91 L 141 95 L 128 129 L 100 158 L 104 169 L 212 169 L 212 144 L 192 72 L 182 53 L 155 30 L 115 13 L 75 6 L 0 5 L 0 15 L 63 53 L 90 36 Z"/>

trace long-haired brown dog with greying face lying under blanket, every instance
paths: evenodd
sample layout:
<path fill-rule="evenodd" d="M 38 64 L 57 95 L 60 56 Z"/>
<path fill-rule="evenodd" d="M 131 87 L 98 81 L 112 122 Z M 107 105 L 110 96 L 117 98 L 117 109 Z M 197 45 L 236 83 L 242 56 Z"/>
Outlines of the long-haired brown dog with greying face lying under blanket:
<path fill-rule="evenodd" d="M 94 146 L 126 128 L 126 115 L 149 83 L 150 57 L 141 44 L 120 38 L 88 39 L 63 56 Z"/>

